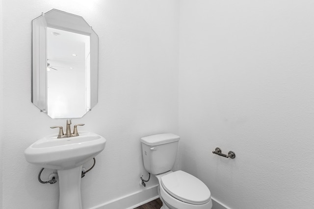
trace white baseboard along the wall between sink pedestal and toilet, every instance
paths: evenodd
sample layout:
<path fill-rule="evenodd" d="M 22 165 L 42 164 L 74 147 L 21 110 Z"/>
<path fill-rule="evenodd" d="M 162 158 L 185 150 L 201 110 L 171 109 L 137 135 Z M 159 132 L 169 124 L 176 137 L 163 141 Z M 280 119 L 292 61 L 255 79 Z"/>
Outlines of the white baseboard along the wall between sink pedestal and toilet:
<path fill-rule="evenodd" d="M 158 185 L 150 186 L 141 191 L 136 191 L 123 197 L 119 197 L 91 209 L 134 209 L 157 199 L 159 197 L 157 186 Z"/>

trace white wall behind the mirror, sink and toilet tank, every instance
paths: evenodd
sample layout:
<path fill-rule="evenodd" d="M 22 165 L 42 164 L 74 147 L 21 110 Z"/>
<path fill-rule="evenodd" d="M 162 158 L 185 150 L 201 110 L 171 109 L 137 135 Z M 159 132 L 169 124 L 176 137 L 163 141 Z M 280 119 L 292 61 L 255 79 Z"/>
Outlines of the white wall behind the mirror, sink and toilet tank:
<path fill-rule="evenodd" d="M 99 102 L 72 121 L 107 139 L 82 179 L 84 209 L 141 190 L 140 137 L 178 132 L 177 0 L 3 0 L 3 209 L 58 204 L 58 185 L 40 184 L 40 168 L 24 158 L 32 142 L 56 133 L 50 126 L 66 122 L 30 102 L 31 20 L 52 8 L 84 17 L 99 36 Z"/>

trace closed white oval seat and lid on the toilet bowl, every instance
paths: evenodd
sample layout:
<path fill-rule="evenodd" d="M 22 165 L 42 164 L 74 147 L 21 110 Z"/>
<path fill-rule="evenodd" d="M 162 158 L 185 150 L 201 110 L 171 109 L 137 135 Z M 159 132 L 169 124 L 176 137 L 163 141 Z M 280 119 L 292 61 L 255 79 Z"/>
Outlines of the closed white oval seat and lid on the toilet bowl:
<path fill-rule="evenodd" d="M 162 176 L 161 186 L 169 195 L 185 203 L 203 205 L 210 200 L 209 188 L 182 170 Z"/>

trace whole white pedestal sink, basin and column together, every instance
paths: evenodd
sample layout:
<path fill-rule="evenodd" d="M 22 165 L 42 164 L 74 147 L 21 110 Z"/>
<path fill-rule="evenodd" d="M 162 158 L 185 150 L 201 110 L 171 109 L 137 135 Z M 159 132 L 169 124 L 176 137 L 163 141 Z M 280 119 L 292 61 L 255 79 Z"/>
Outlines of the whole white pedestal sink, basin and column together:
<path fill-rule="evenodd" d="M 26 161 L 57 170 L 59 177 L 59 209 L 82 209 L 80 180 L 82 165 L 105 148 L 106 139 L 91 132 L 77 137 L 57 139 L 51 135 L 26 148 Z"/>

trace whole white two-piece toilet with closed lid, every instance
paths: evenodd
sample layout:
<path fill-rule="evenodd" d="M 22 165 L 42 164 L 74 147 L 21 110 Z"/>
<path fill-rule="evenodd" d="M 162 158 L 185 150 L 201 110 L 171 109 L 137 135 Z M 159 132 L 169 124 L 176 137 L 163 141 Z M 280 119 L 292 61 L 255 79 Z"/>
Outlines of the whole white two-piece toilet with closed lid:
<path fill-rule="evenodd" d="M 160 209 L 211 209 L 209 188 L 201 180 L 182 170 L 171 171 L 179 140 L 179 136 L 170 133 L 140 139 L 144 167 L 159 182 Z"/>

